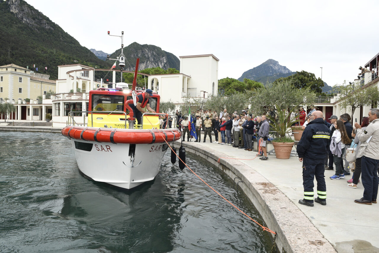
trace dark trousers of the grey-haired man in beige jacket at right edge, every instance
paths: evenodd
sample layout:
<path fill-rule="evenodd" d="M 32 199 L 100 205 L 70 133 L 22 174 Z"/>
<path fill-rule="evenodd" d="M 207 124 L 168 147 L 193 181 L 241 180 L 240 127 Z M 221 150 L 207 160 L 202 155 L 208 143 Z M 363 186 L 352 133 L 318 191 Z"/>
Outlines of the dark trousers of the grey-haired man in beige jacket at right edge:
<path fill-rule="evenodd" d="M 378 163 L 379 160 L 370 157 L 362 157 L 362 184 L 365 190 L 363 198 L 365 200 L 376 199 L 378 194 Z"/>

